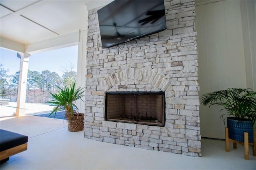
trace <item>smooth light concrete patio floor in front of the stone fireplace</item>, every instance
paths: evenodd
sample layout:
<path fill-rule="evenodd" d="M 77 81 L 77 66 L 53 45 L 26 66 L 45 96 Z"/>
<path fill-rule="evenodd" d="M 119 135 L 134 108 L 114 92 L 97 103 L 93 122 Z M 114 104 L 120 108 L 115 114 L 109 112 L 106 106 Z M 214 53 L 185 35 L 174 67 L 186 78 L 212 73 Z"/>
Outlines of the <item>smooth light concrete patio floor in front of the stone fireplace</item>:
<path fill-rule="evenodd" d="M 69 132 L 61 119 L 0 118 L 0 128 L 29 136 L 28 150 L 11 156 L 1 170 L 256 169 L 251 146 L 250 160 L 244 160 L 243 146 L 226 152 L 224 140 L 202 138 L 202 157 L 192 157 L 90 140 L 83 131 Z"/>

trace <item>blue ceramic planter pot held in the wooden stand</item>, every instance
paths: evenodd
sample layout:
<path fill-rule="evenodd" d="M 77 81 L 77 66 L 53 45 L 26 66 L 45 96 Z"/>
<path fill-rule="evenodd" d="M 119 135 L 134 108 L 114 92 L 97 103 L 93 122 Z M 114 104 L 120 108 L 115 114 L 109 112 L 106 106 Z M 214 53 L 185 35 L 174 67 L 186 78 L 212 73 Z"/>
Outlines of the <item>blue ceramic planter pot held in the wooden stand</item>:
<path fill-rule="evenodd" d="M 228 136 L 230 139 L 244 142 L 244 132 L 248 132 L 249 142 L 253 142 L 253 125 L 251 121 L 238 121 L 233 117 L 227 118 Z"/>

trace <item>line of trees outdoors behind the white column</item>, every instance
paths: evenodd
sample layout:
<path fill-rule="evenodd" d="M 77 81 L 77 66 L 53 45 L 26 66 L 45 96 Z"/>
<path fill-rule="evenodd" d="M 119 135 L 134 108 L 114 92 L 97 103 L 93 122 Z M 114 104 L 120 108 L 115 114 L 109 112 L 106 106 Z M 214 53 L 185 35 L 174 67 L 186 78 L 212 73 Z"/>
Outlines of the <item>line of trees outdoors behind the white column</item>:
<path fill-rule="evenodd" d="M 50 100 L 50 93 L 56 92 L 56 86 L 71 86 L 76 81 L 77 75 L 75 71 L 72 71 L 72 68 L 72 66 L 65 67 L 62 77 L 49 70 L 41 71 L 41 73 L 28 70 L 26 102 L 46 103 Z M 16 102 L 20 72 L 17 71 L 14 75 L 8 75 L 8 71 L 0 64 L 0 97 Z"/>

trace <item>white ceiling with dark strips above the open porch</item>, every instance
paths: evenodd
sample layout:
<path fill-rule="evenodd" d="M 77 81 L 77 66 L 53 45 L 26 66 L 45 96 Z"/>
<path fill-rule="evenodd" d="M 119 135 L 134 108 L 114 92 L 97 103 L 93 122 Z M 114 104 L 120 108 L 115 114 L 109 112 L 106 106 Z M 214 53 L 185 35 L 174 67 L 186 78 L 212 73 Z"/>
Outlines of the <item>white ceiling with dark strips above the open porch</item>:
<path fill-rule="evenodd" d="M 0 0 L 0 38 L 29 45 L 86 30 L 87 10 L 111 1 Z"/>

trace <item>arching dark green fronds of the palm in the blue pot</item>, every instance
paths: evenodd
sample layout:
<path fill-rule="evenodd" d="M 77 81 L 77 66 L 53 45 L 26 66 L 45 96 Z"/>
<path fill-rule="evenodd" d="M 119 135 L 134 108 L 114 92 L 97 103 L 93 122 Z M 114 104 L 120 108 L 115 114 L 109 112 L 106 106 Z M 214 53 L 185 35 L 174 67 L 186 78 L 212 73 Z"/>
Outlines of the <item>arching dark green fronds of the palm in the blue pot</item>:
<path fill-rule="evenodd" d="M 256 121 L 256 92 L 251 89 L 228 88 L 205 93 L 201 99 L 204 106 L 220 105 L 224 107 L 228 111 L 228 115 L 238 121 L 249 119 L 252 124 Z"/>

